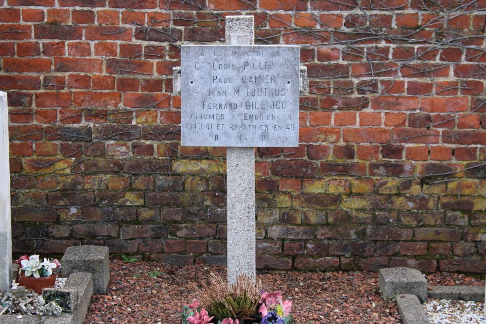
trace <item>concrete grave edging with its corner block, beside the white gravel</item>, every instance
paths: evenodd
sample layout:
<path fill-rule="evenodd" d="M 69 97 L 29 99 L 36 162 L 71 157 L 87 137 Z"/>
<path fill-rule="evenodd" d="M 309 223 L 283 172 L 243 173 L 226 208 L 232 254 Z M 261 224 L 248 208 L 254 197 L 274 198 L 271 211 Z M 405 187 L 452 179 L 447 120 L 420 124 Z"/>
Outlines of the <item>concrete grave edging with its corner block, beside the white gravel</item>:
<path fill-rule="evenodd" d="M 423 282 L 427 289 L 427 281 L 424 278 L 424 281 L 417 284 L 417 272 L 420 273 L 418 270 L 403 267 L 381 269 L 379 272 L 379 287 L 383 297 L 395 298 L 403 324 L 431 324 L 419 298 L 423 302 L 426 302 L 427 298 L 485 302 L 485 288 L 478 286 L 433 286 L 432 290 L 427 290 L 427 297 L 424 299 Z M 396 277 L 397 273 L 402 273 L 403 276 Z M 394 275 L 395 277 L 392 277 Z M 403 287 L 414 287 L 414 289 L 406 291 L 406 294 L 392 295 L 390 292 L 395 290 L 394 285 L 397 285 L 397 282 Z"/>

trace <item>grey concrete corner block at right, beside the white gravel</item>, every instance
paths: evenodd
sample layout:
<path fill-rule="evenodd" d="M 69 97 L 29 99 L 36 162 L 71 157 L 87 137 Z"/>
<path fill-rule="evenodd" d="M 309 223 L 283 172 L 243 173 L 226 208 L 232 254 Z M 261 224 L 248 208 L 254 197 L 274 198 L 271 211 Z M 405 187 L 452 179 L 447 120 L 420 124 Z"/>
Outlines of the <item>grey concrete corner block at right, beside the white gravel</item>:
<path fill-rule="evenodd" d="M 397 294 L 413 294 L 421 303 L 427 300 L 427 280 L 416 269 L 405 267 L 381 269 L 378 284 L 384 297 L 395 298 Z"/>

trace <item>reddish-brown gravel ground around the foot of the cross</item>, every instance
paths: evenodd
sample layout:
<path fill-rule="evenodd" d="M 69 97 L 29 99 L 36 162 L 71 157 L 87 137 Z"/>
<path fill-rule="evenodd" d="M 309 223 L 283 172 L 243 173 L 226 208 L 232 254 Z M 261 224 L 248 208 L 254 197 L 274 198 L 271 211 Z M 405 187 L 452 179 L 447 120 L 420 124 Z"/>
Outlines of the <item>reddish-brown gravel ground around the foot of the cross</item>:
<path fill-rule="evenodd" d="M 92 297 L 84 324 L 180 324 L 182 306 L 193 299 L 189 283 L 205 281 L 210 272 L 226 277 L 221 266 L 162 267 L 120 260 L 111 261 L 110 272 L 109 292 Z M 395 303 L 386 303 L 378 291 L 378 273 L 271 272 L 258 278 L 265 290 L 292 298 L 297 324 L 401 323 Z M 457 274 L 435 273 L 427 279 L 430 285 L 484 285 Z"/>

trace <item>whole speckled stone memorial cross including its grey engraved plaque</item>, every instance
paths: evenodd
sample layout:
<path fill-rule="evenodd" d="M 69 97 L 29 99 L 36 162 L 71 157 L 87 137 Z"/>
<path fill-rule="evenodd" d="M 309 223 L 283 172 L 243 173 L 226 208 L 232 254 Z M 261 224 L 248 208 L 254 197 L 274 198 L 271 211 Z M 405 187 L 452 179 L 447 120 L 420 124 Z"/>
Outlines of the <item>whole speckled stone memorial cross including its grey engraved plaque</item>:
<path fill-rule="evenodd" d="M 254 17 L 226 17 L 226 46 L 183 45 L 173 70 L 181 143 L 225 146 L 228 282 L 255 278 L 255 146 L 298 146 L 307 69 L 298 46 L 254 46 Z"/>

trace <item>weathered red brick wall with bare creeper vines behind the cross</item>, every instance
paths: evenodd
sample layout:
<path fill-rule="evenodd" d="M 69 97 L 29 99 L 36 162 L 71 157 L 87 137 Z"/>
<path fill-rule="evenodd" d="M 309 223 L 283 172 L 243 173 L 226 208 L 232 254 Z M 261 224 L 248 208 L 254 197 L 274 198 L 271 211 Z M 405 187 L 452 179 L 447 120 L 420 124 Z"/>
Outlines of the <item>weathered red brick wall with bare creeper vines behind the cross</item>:
<path fill-rule="evenodd" d="M 0 0 L 16 253 L 225 262 L 225 150 L 180 146 L 181 44 L 301 45 L 300 146 L 256 150 L 257 264 L 486 271 L 485 0 Z"/>

